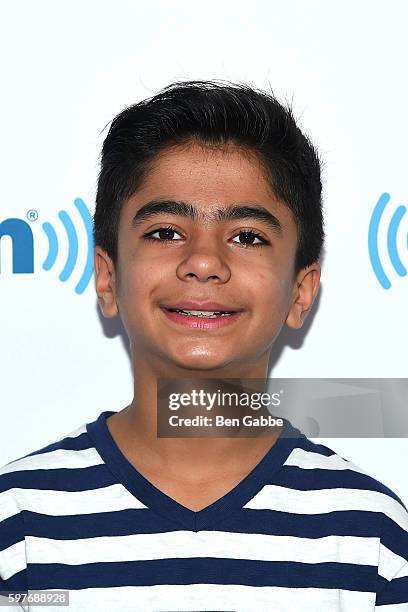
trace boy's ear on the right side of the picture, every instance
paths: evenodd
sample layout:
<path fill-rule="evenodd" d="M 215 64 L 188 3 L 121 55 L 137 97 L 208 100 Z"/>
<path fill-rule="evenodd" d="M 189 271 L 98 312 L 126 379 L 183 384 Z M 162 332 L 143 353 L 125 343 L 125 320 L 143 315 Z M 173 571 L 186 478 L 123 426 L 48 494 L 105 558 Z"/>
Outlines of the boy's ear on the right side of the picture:
<path fill-rule="evenodd" d="M 319 263 L 314 263 L 300 270 L 293 288 L 292 305 L 286 317 L 288 327 L 294 329 L 302 327 L 319 291 L 320 274 Z"/>

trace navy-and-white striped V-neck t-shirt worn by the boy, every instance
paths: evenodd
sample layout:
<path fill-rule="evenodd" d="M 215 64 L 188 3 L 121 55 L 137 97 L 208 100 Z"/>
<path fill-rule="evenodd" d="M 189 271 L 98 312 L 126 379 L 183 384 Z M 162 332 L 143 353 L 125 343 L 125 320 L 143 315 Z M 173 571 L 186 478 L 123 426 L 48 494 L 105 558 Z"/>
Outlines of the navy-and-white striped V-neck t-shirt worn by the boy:
<path fill-rule="evenodd" d="M 69 612 L 407 612 L 408 512 L 285 420 L 194 512 L 126 459 L 102 412 L 0 470 L 0 590 L 69 590 Z M 41 610 L 41 606 L 26 610 Z"/>

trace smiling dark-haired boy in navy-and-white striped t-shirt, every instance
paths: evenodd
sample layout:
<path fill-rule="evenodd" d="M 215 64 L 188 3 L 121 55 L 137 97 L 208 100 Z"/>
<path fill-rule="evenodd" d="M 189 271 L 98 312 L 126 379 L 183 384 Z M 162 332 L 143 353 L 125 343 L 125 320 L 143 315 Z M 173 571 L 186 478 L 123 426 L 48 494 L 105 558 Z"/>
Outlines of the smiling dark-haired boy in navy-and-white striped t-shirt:
<path fill-rule="evenodd" d="M 134 398 L 3 467 L 1 590 L 68 589 L 71 612 L 408 610 L 408 513 L 386 486 L 288 421 L 157 435 L 159 379 L 267 378 L 312 307 L 320 164 L 290 110 L 202 81 L 125 109 L 94 221 Z"/>

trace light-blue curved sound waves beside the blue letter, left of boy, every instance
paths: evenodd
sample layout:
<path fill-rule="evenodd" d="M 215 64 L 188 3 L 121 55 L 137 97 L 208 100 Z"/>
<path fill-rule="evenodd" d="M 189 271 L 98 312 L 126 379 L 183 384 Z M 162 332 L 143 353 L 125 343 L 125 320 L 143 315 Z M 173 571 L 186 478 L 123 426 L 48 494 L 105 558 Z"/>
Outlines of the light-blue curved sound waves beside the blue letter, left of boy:
<path fill-rule="evenodd" d="M 75 287 L 75 292 L 78 294 L 81 294 L 87 288 L 88 283 L 93 274 L 93 248 L 94 248 L 93 234 L 92 234 L 93 220 L 89 213 L 88 208 L 86 207 L 84 201 L 81 198 L 75 198 L 74 204 L 76 208 L 78 209 L 79 214 L 81 215 L 82 221 L 85 226 L 86 235 L 87 235 L 88 252 L 87 252 L 85 268 L 82 272 L 82 276 L 79 279 L 77 286 Z M 67 233 L 68 245 L 69 245 L 67 261 L 65 262 L 65 266 L 59 275 L 60 281 L 65 282 L 71 276 L 74 270 L 74 267 L 76 265 L 76 262 L 77 262 L 78 236 L 75 230 L 75 226 L 73 222 L 71 221 L 71 218 L 64 210 L 61 210 L 58 213 L 58 217 L 60 218 L 65 228 L 65 231 Z M 54 265 L 55 260 L 57 259 L 58 238 L 57 238 L 57 233 L 54 230 L 51 223 L 45 222 L 43 223 L 42 227 L 48 238 L 48 255 L 43 263 L 43 268 L 44 270 L 50 270 L 52 266 Z"/>

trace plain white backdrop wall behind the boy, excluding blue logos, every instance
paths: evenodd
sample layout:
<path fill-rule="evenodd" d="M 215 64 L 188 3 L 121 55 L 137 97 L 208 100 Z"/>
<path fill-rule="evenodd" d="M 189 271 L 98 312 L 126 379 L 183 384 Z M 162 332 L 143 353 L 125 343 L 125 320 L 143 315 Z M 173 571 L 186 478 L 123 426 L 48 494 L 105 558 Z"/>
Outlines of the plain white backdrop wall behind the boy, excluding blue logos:
<path fill-rule="evenodd" d="M 283 332 L 277 377 L 408 376 L 408 278 L 386 248 L 391 216 L 407 202 L 408 5 L 366 0 L 14 0 L 1 3 L 0 222 L 25 220 L 34 273 L 13 273 L 1 239 L 0 464 L 63 436 L 132 398 L 126 336 L 99 314 L 94 279 L 75 292 L 87 258 L 103 127 L 122 108 L 180 79 L 271 86 L 293 101 L 324 160 L 326 255 L 320 296 L 299 339 Z M 379 249 L 391 287 L 370 263 L 374 206 L 391 196 Z M 36 211 L 27 219 L 27 211 Z M 59 275 L 68 239 L 79 240 L 71 276 Z M 43 269 L 50 223 L 59 249 Z M 408 265 L 408 215 L 398 253 Z M 318 439 L 408 503 L 408 440 Z"/>

